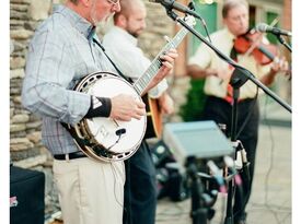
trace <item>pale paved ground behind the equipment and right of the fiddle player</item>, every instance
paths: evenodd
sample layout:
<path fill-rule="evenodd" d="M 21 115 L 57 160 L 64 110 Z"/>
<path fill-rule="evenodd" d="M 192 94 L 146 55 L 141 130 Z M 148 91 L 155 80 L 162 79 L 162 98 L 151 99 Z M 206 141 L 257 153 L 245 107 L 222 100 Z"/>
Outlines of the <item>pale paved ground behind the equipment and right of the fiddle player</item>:
<path fill-rule="evenodd" d="M 266 108 L 266 107 L 264 107 Z M 277 105 L 263 110 L 269 120 L 259 127 L 258 153 L 247 224 L 291 223 L 291 127 L 290 114 Z M 215 204 L 211 224 L 223 223 L 222 202 Z M 171 202 L 162 199 L 158 204 L 157 224 L 188 224 L 190 200 Z"/>

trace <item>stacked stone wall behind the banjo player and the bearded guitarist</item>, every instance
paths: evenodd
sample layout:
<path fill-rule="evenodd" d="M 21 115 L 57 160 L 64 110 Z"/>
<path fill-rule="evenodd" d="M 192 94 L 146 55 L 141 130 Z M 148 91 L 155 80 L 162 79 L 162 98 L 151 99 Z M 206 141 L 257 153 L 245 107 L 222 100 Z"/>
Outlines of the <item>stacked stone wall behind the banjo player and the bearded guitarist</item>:
<path fill-rule="evenodd" d="M 62 0 L 11 0 L 10 2 L 10 156 L 15 166 L 42 170 L 46 175 L 46 217 L 59 210 L 53 182 L 53 158 L 40 142 L 40 119 L 21 105 L 27 45 L 37 25 L 50 13 L 54 3 Z M 165 45 L 163 35 L 173 36 L 174 22 L 160 4 L 146 1 L 147 32 L 139 45 L 153 58 Z M 159 20 L 160 19 L 160 20 Z"/>

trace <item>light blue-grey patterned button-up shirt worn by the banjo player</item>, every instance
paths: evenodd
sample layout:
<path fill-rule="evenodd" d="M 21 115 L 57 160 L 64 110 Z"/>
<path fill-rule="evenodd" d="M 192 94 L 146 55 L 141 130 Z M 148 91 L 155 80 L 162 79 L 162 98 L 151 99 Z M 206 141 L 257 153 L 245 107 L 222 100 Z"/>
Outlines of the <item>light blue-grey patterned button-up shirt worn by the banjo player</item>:
<path fill-rule="evenodd" d="M 79 122 L 90 108 L 90 96 L 72 91 L 74 84 L 95 71 L 115 71 L 92 36 L 91 23 L 59 5 L 30 44 L 22 103 L 42 117 L 42 140 L 53 154 L 79 151 L 60 123 Z"/>

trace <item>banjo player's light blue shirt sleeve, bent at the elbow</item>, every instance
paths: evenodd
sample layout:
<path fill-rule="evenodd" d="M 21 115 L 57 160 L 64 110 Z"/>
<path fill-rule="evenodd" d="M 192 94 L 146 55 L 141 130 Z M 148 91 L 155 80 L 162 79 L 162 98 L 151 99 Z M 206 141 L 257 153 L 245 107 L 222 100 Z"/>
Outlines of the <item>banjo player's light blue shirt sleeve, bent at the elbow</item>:
<path fill-rule="evenodd" d="M 22 104 L 39 116 L 74 125 L 86 114 L 90 96 L 70 90 L 76 71 L 70 48 L 51 31 L 37 32 L 30 44 Z"/>

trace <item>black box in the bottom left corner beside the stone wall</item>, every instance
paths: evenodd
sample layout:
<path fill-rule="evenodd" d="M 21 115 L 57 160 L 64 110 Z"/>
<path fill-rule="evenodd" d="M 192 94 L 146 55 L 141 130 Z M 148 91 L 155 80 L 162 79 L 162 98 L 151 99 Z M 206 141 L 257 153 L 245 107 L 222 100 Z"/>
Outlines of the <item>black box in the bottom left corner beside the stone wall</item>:
<path fill-rule="evenodd" d="M 10 167 L 10 224 L 44 224 L 45 175 Z"/>

